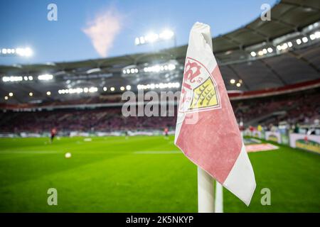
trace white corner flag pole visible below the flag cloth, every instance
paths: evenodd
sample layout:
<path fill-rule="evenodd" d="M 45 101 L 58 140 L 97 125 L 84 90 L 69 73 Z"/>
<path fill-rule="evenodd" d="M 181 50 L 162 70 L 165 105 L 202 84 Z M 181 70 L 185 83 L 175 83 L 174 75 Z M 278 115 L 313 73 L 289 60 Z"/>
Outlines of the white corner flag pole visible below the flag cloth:
<path fill-rule="evenodd" d="M 198 167 L 198 213 L 214 213 L 213 178 Z"/>

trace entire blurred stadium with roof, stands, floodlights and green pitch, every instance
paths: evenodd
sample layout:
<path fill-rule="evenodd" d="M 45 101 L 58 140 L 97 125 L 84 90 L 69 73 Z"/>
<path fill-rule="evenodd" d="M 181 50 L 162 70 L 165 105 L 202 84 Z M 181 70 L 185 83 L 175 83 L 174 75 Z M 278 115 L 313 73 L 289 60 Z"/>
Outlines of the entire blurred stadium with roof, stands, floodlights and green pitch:
<path fill-rule="evenodd" d="M 270 21 L 212 38 L 257 184 L 250 206 L 223 189 L 223 212 L 320 212 L 319 11 L 277 1 Z M 1 47 L 0 211 L 197 212 L 197 167 L 174 144 L 179 96 L 139 99 L 181 91 L 187 48 L 8 65 L 28 50 Z M 164 110 L 124 116 L 126 92 Z"/>

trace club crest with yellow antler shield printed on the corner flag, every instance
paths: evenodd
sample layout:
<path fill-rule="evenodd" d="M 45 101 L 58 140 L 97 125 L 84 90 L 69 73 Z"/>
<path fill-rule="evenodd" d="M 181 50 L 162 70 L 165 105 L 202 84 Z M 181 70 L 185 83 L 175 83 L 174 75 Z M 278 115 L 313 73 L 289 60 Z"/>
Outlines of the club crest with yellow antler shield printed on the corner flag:
<path fill-rule="evenodd" d="M 206 67 L 186 58 L 179 111 L 182 113 L 220 108 L 220 96 L 215 79 Z"/>

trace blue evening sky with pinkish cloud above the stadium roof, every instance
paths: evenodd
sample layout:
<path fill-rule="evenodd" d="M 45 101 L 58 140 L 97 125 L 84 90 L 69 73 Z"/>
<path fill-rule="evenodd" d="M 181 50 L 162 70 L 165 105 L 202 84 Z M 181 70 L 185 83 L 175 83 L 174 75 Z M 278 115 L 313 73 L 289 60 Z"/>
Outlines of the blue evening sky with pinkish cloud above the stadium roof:
<path fill-rule="evenodd" d="M 1 57 L 0 65 L 70 62 L 151 52 L 174 47 L 174 40 L 134 45 L 134 38 L 170 29 L 176 45 L 188 43 L 196 21 L 213 37 L 260 17 L 262 4 L 276 0 L 0 0 L 0 48 L 33 50 L 31 57 Z M 49 4 L 58 21 L 48 21 Z"/>

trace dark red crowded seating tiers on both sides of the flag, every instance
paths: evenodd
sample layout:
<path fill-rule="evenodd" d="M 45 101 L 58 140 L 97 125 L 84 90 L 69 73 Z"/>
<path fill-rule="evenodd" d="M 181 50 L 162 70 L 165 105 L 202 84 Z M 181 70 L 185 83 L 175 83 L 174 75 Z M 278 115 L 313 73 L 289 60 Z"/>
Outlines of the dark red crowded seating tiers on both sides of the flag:
<path fill-rule="evenodd" d="M 244 123 L 276 111 L 286 114 L 268 119 L 277 125 L 280 121 L 313 123 L 320 118 L 320 90 L 297 92 L 281 96 L 232 101 L 235 116 Z M 174 128 L 176 117 L 122 116 L 121 107 L 100 109 L 56 109 L 53 111 L 5 111 L 0 114 L 1 133 L 43 133 L 56 127 L 58 131 L 116 131 Z"/>

